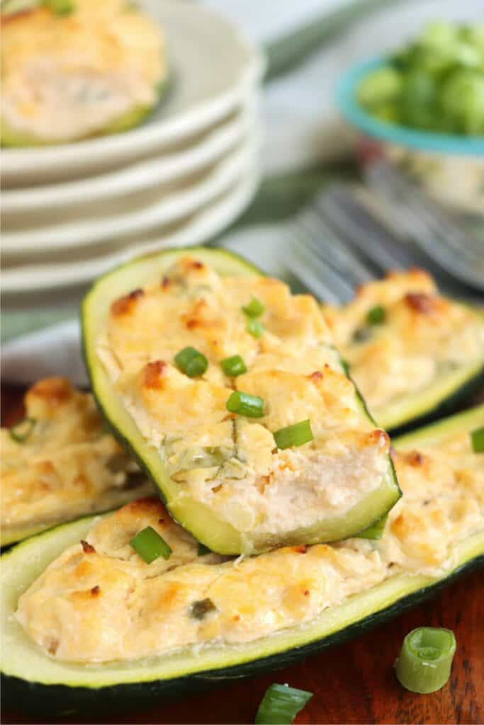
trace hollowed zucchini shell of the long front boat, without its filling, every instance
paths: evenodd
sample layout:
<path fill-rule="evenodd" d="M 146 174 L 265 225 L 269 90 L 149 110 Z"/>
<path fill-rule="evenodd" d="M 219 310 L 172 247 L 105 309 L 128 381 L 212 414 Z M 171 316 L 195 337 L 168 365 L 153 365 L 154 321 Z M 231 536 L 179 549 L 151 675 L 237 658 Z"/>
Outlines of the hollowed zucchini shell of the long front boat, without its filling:
<path fill-rule="evenodd" d="M 463 451 L 465 467 L 469 455 L 472 455 L 469 433 L 482 428 L 483 423 L 484 405 L 481 405 L 454 418 L 415 431 L 410 436 L 395 441 L 395 446 L 398 451 L 403 451 L 405 465 L 425 466 L 425 458 L 429 450 L 432 451 L 432 447 L 440 447 L 437 448 L 438 465 L 440 452 L 446 452 L 446 446 L 451 442 L 452 446 L 458 447 L 458 456 Z M 484 454 L 480 452 L 476 455 L 482 457 Z M 475 460 L 472 460 L 472 464 L 479 475 L 481 469 L 475 468 Z M 422 468 L 422 472 L 425 476 L 425 468 Z M 456 476 L 456 480 L 461 479 Z M 479 484 L 480 479 L 475 480 Z M 432 480 L 428 484 L 439 486 L 440 481 Z M 463 485 L 464 498 L 469 498 L 469 477 Z M 422 500 L 426 500 L 427 491 L 420 493 Z M 434 493 L 435 502 L 438 503 L 438 488 Z M 480 492 L 475 493 L 478 500 Z M 401 510 L 404 502 L 405 497 L 398 504 Z M 409 515 L 411 514 L 410 506 Z M 454 514 L 451 512 L 451 515 Z M 450 584 L 460 573 L 484 563 L 484 529 L 476 530 L 474 520 L 474 529 L 469 528 L 469 535 L 451 544 L 447 552 L 449 556 L 446 566 L 435 570 L 438 574 L 422 573 L 419 568 L 391 568 L 389 571 L 396 569 L 397 572 L 389 573 L 374 586 L 350 597 L 343 597 L 339 604 L 317 613 L 310 621 L 285 628 L 283 624 L 279 624 L 279 631 L 251 642 L 205 642 L 202 646 L 199 644 L 194 648 L 179 647 L 159 657 L 141 660 L 89 664 L 58 660 L 34 644 L 20 626 L 14 616 L 19 598 L 67 547 L 78 545 L 80 539 L 88 536 L 93 523 L 107 521 L 107 516 L 109 515 L 84 518 L 59 526 L 18 544 L 2 556 L 1 673 L 4 676 L 4 705 L 15 705 L 15 708 L 30 709 L 36 713 L 72 713 L 92 708 L 101 711 L 104 708 L 119 708 L 128 703 L 130 706 L 136 705 L 176 692 L 186 694 L 191 689 L 201 689 L 221 681 L 281 668 L 325 647 L 344 642 L 372 626 L 382 624 L 388 618 L 417 605 L 440 587 Z M 393 526 L 397 528 L 399 517 L 400 514 L 393 521 Z M 383 543 L 371 544 L 353 539 L 351 542 L 333 544 L 335 555 L 342 547 L 343 550 L 345 547 L 353 547 L 356 551 L 366 550 L 371 553 L 371 547 L 374 546 L 384 551 L 381 547 L 385 546 L 387 535 L 384 534 Z M 389 532 L 389 535 L 391 538 L 394 534 Z M 331 547 L 314 548 L 325 550 Z M 292 550 L 287 551 L 294 556 Z M 279 550 L 245 561 L 249 564 L 251 561 L 268 561 L 271 556 L 280 557 L 281 553 L 282 550 Z M 305 560 L 308 555 L 309 553 L 301 555 L 301 560 Z M 120 566 L 125 566 L 123 561 Z M 157 565 L 152 563 L 147 566 Z M 283 569 L 285 571 L 286 568 Z M 228 590 L 226 593 L 230 594 Z M 91 592 L 91 595 L 94 594 L 101 596 L 102 592 Z M 73 592 L 73 596 L 81 595 L 87 596 L 89 592 L 78 592 L 78 595 Z M 261 596 L 260 593 L 258 595 Z M 34 612 L 38 615 L 38 608 L 34 607 Z M 111 608 L 110 616 L 115 621 L 116 613 Z"/>

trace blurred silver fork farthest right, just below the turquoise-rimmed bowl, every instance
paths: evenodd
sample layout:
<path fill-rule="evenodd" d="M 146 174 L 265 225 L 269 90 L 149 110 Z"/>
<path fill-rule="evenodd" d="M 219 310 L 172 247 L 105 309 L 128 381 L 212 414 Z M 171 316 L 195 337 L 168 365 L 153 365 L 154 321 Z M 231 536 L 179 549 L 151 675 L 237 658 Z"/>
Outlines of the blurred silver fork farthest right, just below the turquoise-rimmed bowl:
<path fill-rule="evenodd" d="M 388 162 L 369 164 L 365 177 L 374 193 L 393 211 L 402 230 L 436 265 L 475 289 L 484 290 L 483 241 Z"/>

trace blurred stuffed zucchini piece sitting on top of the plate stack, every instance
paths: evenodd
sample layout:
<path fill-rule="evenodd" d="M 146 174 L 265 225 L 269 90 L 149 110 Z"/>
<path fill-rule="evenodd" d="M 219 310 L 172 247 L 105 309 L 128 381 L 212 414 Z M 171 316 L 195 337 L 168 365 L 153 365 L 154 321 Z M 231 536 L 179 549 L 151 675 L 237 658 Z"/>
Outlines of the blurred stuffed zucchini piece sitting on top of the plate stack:
<path fill-rule="evenodd" d="M 20 9 L 15 0 L 1 8 L 2 145 L 116 133 L 155 107 L 167 85 L 163 35 L 133 4 L 32 0 Z"/>

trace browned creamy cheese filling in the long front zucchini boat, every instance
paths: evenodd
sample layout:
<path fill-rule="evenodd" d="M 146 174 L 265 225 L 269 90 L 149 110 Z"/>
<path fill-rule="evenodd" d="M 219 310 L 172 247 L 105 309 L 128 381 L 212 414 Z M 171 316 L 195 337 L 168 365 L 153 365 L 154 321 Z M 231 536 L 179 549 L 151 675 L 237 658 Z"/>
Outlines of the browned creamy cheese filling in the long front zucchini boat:
<path fill-rule="evenodd" d="M 155 499 L 95 523 L 20 597 L 17 621 L 61 660 L 86 663 L 242 645 L 308 623 L 395 573 L 441 576 L 455 545 L 484 528 L 483 454 L 468 434 L 395 454 L 403 498 L 380 541 L 284 547 L 253 558 L 197 556 Z M 129 545 L 152 526 L 173 549 L 147 564 Z"/>

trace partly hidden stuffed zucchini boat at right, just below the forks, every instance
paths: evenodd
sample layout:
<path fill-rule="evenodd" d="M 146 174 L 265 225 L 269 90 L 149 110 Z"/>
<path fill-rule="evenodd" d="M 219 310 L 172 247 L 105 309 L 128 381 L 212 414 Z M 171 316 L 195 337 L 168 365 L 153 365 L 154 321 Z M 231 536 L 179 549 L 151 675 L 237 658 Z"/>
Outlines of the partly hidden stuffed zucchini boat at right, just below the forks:
<path fill-rule="evenodd" d="M 344 307 L 323 307 L 380 426 L 447 410 L 484 381 L 484 311 L 440 296 L 424 271 L 389 273 Z"/>

